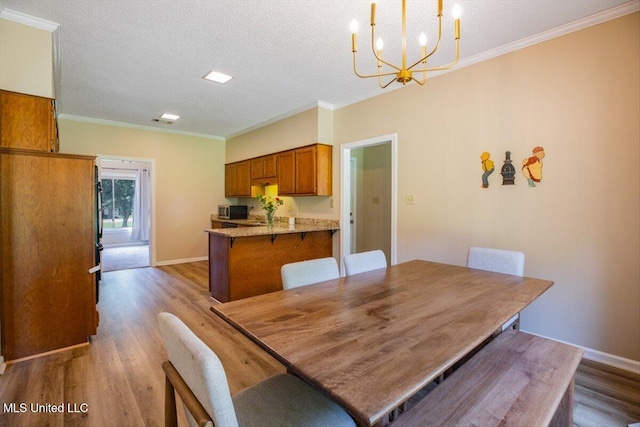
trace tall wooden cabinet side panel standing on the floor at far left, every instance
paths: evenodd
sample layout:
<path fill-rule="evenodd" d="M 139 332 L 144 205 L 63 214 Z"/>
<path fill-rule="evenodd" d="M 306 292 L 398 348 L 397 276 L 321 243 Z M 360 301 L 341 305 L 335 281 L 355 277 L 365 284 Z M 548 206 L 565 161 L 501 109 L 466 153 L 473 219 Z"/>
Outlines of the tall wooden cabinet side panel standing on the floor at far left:
<path fill-rule="evenodd" d="M 87 343 L 97 330 L 93 156 L 0 147 L 2 355 Z"/>

